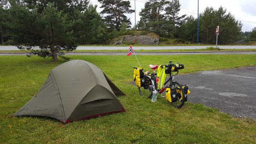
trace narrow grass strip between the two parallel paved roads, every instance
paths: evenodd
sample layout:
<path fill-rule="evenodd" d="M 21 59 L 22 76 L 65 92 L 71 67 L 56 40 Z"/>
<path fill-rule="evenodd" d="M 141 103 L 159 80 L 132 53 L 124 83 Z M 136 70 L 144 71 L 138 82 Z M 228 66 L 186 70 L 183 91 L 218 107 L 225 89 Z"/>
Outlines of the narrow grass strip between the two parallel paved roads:
<path fill-rule="evenodd" d="M 127 52 L 128 49 L 116 50 L 74 50 L 72 52 Z M 158 50 L 143 50 L 138 49 L 136 52 L 202 52 L 202 51 L 256 51 L 256 49 L 158 49 Z M 0 50 L 0 52 L 29 52 L 27 50 Z"/>

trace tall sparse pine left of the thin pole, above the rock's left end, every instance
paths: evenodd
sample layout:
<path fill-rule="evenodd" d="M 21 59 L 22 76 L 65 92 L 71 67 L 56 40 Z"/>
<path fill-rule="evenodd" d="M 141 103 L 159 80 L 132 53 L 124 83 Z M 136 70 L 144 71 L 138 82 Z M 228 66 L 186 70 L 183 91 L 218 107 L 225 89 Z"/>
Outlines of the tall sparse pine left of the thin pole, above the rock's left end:
<path fill-rule="evenodd" d="M 125 0 L 98 0 L 103 8 L 101 14 L 104 14 L 105 24 L 110 30 L 115 28 L 120 30 L 122 23 L 125 23 L 131 27 L 131 20 L 127 18 L 125 14 L 131 14 L 134 10 L 130 9 L 130 1 Z"/>

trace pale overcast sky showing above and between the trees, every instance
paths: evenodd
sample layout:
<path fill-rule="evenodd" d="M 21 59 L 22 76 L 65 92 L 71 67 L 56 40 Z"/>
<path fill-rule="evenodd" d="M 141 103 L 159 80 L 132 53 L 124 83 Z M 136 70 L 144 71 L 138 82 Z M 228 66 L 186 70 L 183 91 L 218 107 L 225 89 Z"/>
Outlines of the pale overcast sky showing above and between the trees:
<path fill-rule="evenodd" d="M 134 9 L 134 0 L 131 1 L 131 9 Z M 136 21 L 140 20 L 139 12 L 144 8 L 147 0 L 136 0 Z M 101 12 L 100 3 L 97 0 L 90 0 L 93 5 L 98 5 L 98 12 Z M 180 15 L 187 14 L 197 17 L 198 0 L 180 0 Z M 199 0 L 199 13 L 204 12 L 207 6 L 218 9 L 222 6 L 227 9 L 234 17 L 243 23 L 242 31 L 251 31 L 256 27 L 256 0 Z M 125 14 L 131 18 L 132 26 L 134 26 L 134 13 Z M 221 28 L 220 28 L 221 29 Z"/>

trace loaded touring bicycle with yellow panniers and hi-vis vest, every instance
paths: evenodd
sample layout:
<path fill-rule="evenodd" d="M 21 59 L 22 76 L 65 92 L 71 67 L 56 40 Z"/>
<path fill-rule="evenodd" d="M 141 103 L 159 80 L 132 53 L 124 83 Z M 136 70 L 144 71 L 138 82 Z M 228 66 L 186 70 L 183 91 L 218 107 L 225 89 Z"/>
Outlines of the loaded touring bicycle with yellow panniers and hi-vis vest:
<path fill-rule="evenodd" d="M 152 102 L 154 102 L 157 94 L 160 94 L 175 107 L 183 107 L 190 91 L 188 86 L 173 80 L 173 76 L 177 75 L 180 69 L 184 69 L 183 64 L 173 64 L 170 61 L 168 65 L 149 65 L 149 67 L 153 73 L 143 72 L 142 68 L 134 67 L 134 81 L 140 95 L 147 98 L 151 98 L 153 95 Z M 155 73 L 155 69 L 157 69 L 157 73 Z M 166 75 L 169 77 L 167 80 Z M 164 91 L 165 94 L 163 94 Z"/>

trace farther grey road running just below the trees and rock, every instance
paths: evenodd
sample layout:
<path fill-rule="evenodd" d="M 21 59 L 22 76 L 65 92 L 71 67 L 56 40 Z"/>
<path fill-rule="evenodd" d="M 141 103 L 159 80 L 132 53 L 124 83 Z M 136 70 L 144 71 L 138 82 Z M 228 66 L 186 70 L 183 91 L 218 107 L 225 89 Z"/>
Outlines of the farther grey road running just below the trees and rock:
<path fill-rule="evenodd" d="M 154 49 L 205 49 L 209 46 L 133 46 L 134 50 Z M 213 46 L 214 47 L 214 46 Z M 256 49 L 256 46 L 218 46 L 220 49 Z M 78 46 L 77 50 L 116 50 L 127 49 L 128 46 Z M 0 46 L 0 50 L 18 50 L 16 46 Z"/>

